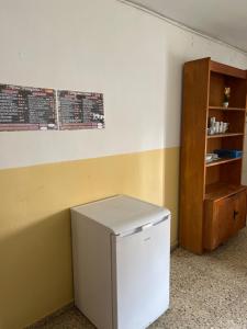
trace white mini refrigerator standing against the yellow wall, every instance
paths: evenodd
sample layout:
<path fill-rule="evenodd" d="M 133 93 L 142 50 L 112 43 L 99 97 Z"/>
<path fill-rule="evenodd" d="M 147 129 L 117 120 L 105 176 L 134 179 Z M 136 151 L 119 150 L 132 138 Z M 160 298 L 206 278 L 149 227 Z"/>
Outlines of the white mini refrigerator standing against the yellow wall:
<path fill-rule="evenodd" d="M 169 306 L 170 212 L 117 195 L 71 208 L 75 304 L 99 329 L 147 328 Z"/>

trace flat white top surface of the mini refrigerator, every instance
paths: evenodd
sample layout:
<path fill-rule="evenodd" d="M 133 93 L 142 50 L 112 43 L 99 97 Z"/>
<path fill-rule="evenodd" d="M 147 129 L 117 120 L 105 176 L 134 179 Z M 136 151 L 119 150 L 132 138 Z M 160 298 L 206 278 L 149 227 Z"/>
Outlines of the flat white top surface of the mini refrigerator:
<path fill-rule="evenodd" d="M 166 208 L 127 195 L 96 201 L 76 206 L 71 211 L 105 226 L 114 235 L 158 223 L 170 215 Z"/>

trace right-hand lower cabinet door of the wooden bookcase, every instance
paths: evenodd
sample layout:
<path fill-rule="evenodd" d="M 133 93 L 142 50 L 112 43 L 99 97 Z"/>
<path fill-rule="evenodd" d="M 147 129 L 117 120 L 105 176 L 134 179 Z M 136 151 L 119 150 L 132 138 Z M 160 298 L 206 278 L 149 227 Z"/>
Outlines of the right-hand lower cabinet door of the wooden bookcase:
<path fill-rule="evenodd" d="M 246 208 L 247 208 L 247 194 L 246 191 L 237 193 L 234 198 L 234 234 L 246 226 Z"/>

